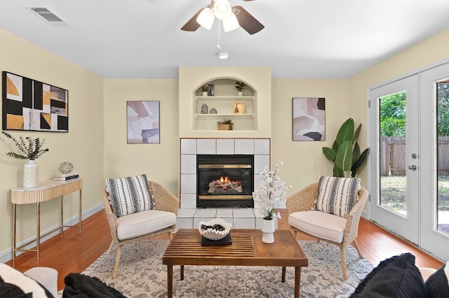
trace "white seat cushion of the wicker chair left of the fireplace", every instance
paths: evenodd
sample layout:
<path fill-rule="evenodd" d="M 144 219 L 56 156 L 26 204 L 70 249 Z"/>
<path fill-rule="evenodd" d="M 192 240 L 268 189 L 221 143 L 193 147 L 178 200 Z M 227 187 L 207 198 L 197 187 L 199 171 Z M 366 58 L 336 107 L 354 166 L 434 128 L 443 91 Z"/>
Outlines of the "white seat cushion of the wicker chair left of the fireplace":
<path fill-rule="evenodd" d="M 176 214 L 161 210 L 132 213 L 115 220 L 117 238 L 131 239 L 176 225 Z"/>

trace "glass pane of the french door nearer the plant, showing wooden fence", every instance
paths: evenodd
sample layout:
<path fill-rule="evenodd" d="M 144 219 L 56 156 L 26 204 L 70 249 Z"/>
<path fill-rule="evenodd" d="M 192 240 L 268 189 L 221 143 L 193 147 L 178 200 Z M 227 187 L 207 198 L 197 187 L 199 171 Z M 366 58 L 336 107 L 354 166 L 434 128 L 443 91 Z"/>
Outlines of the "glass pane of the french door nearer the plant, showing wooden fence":
<path fill-rule="evenodd" d="M 379 102 L 380 206 L 406 216 L 406 91 Z"/>

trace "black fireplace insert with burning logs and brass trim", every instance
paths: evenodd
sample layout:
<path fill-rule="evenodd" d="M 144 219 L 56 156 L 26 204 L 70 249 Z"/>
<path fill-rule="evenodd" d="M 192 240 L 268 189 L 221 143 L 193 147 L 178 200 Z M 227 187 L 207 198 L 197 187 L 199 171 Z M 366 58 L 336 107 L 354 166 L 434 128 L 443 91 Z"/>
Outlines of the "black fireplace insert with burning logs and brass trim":
<path fill-rule="evenodd" d="M 253 208 L 254 155 L 196 155 L 198 208 Z"/>

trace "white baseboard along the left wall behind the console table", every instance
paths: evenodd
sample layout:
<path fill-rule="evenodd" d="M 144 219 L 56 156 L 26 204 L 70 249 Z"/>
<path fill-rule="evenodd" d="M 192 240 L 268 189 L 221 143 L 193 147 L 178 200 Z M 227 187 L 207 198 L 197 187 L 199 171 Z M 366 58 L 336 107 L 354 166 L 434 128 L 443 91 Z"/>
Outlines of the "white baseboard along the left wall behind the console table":
<path fill-rule="evenodd" d="M 96 206 L 93 206 L 92 208 L 89 208 L 89 209 L 81 212 L 81 220 L 85 220 L 86 218 L 90 217 L 91 215 L 97 213 L 98 211 L 101 211 L 103 208 L 104 208 L 103 204 L 100 203 Z M 74 215 L 72 218 L 69 218 L 64 221 L 64 225 L 77 225 L 77 224 L 78 224 L 78 215 Z M 57 229 L 58 227 L 59 227 L 59 224 L 54 225 L 53 227 L 49 227 L 48 229 L 46 229 L 46 231 L 41 231 L 41 234 L 45 235 L 49 231 L 56 229 L 55 231 L 47 234 L 46 236 L 41 237 L 41 243 L 43 243 L 44 241 L 46 241 L 48 239 L 51 239 L 51 237 L 53 237 L 53 236 L 58 235 L 59 234 L 59 229 Z M 68 229 L 68 227 L 66 227 L 64 229 Z M 27 243 L 29 241 L 32 241 L 32 242 L 29 243 L 27 246 L 25 246 L 24 247 L 25 249 L 33 248 L 34 246 L 36 246 L 36 236 L 31 236 L 31 237 L 29 237 L 29 239 L 25 239 L 24 241 L 17 243 L 17 246 L 21 246 L 23 243 Z M 18 252 L 18 253 L 16 253 L 16 256 L 18 256 L 22 253 L 23 252 Z M 11 260 L 12 258 L 13 258 L 13 246 L 11 246 L 11 248 L 8 248 L 0 253 L 0 262 L 2 262 L 2 263 L 6 263 L 9 260 Z"/>

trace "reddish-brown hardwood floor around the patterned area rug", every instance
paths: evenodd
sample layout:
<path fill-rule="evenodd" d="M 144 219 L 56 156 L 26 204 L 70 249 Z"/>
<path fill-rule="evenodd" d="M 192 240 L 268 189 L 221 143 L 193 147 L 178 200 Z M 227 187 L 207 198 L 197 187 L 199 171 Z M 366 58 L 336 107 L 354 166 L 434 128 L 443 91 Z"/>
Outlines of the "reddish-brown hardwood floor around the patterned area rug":
<path fill-rule="evenodd" d="M 289 229 L 286 210 L 282 210 L 281 215 L 279 229 Z M 83 220 L 82 227 L 81 235 L 78 234 L 78 228 L 72 227 L 67 229 L 63 235 L 54 236 L 41 243 L 41 259 L 39 261 L 36 260 L 36 253 L 27 252 L 6 264 L 22 272 L 36 266 L 55 268 L 58 270 L 58 289 L 61 290 L 64 288 L 64 277 L 67 274 L 84 271 L 102 253 L 105 253 L 111 243 L 111 234 L 104 211 Z M 154 239 L 168 240 L 168 235 L 156 236 Z M 297 240 L 311 239 L 311 237 L 301 234 L 297 235 Z M 438 269 L 443 264 L 407 241 L 390 234 L 364 218 L 361 218 L 357 241 L 366 259 L 373 266 L 388 257 L 407 252 L 415 255 L 417 267 Z"/>

